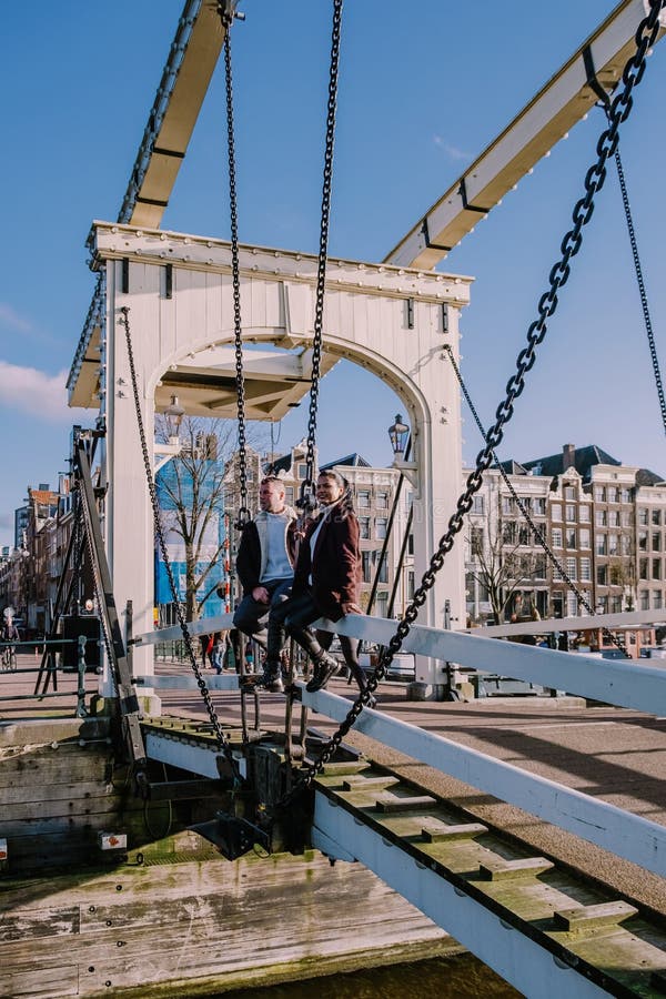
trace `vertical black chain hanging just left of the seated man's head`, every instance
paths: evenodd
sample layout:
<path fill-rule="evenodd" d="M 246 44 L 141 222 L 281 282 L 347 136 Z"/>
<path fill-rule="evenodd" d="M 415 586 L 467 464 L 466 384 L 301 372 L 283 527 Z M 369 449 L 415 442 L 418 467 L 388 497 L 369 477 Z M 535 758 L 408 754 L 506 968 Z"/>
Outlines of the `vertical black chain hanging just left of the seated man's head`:
<path fill-rule="evenodd" d="M 231 280 L 233 284 L 233 330 L 235 345 L 236 414 L 239 425 L 240 501 L 236 528 L 250 521 L 248 507 L 248 458 L 245 453 L 245 377 L 243 374 L 243 333 L 241 323 L 241 276 L 239 264 L 239 211 L 235 182 L 235 141 L 233 132 L 233 81 L 231 73 L 231 24 L 224 38 L 224 70 L 226 80 L 226 143 L 229 151 L 229 210 L 231 215 Z"/>

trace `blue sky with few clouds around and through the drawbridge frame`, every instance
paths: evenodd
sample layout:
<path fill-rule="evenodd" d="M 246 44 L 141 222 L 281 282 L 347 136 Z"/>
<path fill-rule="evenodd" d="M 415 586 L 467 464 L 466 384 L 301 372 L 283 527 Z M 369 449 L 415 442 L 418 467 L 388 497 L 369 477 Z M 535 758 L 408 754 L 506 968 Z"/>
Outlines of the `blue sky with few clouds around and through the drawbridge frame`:
<path fill-rule="evenodd" d="M 381 260 L 614 6 L 422 0 L 412 9 L 404 0 L 347 0 L 331 254 Z M 93 219 L 118 215 L 181 7 L 181 0 L 39 0 L 37 8 L 3 12 L 0 544 L 12 541 L 13 509 L 27 486 L 54 484 L 71 424 L 85 422 L 67 410 L 64 393 L 93 286 L 84 241 Z M 241 7 L 246 20 L 233 29 L 240 235 L 315 252 L 331 7 L 327 0 Z M 662 43 L 620 145 L 658 347 L 666 317 L 665 60 Z M 222 69 L 163 225 L 225 239 Z M 591 113 L 441 265 L 476 279 L 462 319 L 463 369 L 486 424 L 571 226 L 602 128 L 602 112 Z M 503 457 L 596 443 L 626 464 L 666 475 L 632 266 L 610 171 Z M 389 463 L 386 427 L 398 407 L 392 392 L 339 365 L 321 398 L 322 460 L 357 450 Z M 305 410 L 284 421 L 285 450 L 302 436 Z M 468 416 L 464 436 L 472 461 L 480 442 Z"/>

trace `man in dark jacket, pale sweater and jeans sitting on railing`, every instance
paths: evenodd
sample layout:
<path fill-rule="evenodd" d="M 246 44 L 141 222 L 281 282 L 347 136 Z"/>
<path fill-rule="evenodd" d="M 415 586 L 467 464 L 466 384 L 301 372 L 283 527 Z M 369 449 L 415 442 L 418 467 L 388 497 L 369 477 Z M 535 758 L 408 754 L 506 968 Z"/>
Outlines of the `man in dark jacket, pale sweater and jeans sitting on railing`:
<path fill-rule="evenodd" d="M 266 648 L 264 672 L 258 684 L 279 693 L 284 689 L 280 653 L 285 636 L 282 625 L 271 626 L 269 613 L 291 593 L 299 531 L 295 511 L 286 505 L 284 484 L 278 476 L 266 475 L 261 481 L 259 505 L 256 516 L 245 524 L 241 535 L 236 573 L 243 598 L 233 624 Z"/>

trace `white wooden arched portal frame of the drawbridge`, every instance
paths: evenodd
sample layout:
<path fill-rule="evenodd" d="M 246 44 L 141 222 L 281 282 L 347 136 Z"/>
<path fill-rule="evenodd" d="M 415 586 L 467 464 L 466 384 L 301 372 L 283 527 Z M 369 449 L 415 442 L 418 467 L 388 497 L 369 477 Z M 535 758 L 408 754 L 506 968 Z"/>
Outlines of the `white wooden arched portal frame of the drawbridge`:
<path fill-rule="evenodd" d="M 108 555 L 119 609 L 131 599 L 142 632 L 152 623 L 153 529 L 120 310 L 130 310 L 149 442 L 154 412 L 173 394 L 190 415 L 235 417 L 231 251 L 222 241 L 108 223 L 95 224 L 91 246 L 93 265 L 107 275 L 100 395 L 107 418 Z M 244 359 L 246 418 L 276 420 L 310 386 L 316 258 L 242 246 L 240 273 L 243 340 L 254 345 Z M 322 374 L 341 359 L 356 363 L 396 392 L 410 417 L 416 578 L 427 568 L 461 491 L 458 387 L 442 349 L 450 344 L 457 356 L 458 315 L 470 283 L 357 261 L 331 260 L 327 268 Z M 454 627 L 464 625 L 461 548 L 447 557 L 428 595 L 421 616 L 425 625 L 441 627 L 445 614 Z M 145 557 L 139 559 L 138 552 Z M 150 650 L 137 654 L 149 657 Z M 150 668 L 148 662 L 141 665 Z M 424 658 L 417 676 L 436 683 L 437 668 Z"/>

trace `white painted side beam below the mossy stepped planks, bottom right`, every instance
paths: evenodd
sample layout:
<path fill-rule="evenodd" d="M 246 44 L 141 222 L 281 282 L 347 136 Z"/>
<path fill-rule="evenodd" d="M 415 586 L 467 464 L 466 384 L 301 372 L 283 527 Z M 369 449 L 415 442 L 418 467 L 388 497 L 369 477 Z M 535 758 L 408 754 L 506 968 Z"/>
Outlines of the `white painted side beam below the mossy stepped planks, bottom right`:
<path fill-rule="evenodd" d="M 337 845 L 341 857 L 353 844 L 354 856 L 365 867 L 529 999 L 607 996 L 573 968 L 562 967 L 537 941 L 508 927 L 462 889 L 456 890 L 380 834 L 355 823 L 344 808 L 332 807 L 321 793 L 315 794 L 314 828 L 323 841 Z"/>

